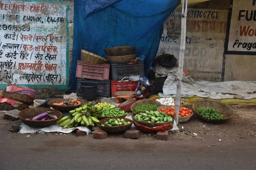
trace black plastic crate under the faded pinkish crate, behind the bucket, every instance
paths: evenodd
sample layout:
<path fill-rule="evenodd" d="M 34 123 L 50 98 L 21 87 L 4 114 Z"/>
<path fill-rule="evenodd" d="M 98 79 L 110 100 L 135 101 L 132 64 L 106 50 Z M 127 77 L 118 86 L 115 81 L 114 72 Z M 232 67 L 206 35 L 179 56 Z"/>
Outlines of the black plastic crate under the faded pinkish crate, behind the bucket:
<path fill-rule="evenodd" d="M 111 80 L 88 80 L 88 79 L 77 79 L 76 95 L 82 96 L 81 83 L 82 82 L 96 82 L 98 83 L 97 96 L 98 97 L 111 97 Z"/>

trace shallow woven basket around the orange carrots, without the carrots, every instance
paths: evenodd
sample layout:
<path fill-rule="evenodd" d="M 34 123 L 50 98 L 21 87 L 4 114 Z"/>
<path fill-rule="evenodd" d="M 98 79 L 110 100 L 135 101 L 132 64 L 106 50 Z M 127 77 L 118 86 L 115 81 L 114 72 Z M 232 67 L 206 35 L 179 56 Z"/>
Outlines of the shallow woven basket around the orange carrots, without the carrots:
<path fill-rule="evenodd" d="M 84 104 L 83 100 L 77 99 L 79 102 L 81 102 L 80 105 L 76 105 L 76 106 L 57 106 L 57 105 L 53 105 L 53 103 L 61 103 L 61 102 L 65 102 L 68 101 L 70 99 L 57 99 L 57 100 L 52 100 L 48 102 L 48 105 L 51 106 L 53 109 L 57 110 L 57 111 L 72 111 L 76 108 L 81 107 Z M 71 99 L 72 100 L 72 99 Z"/>

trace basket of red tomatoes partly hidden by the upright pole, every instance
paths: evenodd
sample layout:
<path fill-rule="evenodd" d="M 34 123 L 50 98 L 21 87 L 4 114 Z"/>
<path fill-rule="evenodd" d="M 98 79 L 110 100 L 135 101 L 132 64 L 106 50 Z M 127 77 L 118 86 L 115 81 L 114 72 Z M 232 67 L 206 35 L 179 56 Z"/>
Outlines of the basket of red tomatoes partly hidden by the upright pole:
<path fill-rule="evenodd" d="M 175 107 L 174 106 L 160 106 L 157 108 L 157 111 L 162 111 L 172 117 L 175 115 Z M 191 116 L 193 115 L 193 111 L 189 108 L 180 107 L 179 110 L 179 123 L 187 122 Z"/>

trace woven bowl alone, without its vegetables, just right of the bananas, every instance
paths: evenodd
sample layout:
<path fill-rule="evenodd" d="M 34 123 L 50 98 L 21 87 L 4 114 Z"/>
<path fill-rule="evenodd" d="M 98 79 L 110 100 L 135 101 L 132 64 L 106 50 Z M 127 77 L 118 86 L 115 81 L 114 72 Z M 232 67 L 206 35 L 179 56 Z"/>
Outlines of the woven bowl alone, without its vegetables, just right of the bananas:
<path fill-rule="evenodd" d="M 131 123 L 128 125 L 120 125 L 120 126 L 113 126 L 113 127 L 102 126 L 102 124 L 104 124 L 105 122 L 108 122 L 109 119 L 113 119 L 113 118 L 102 119 L 99 123 L 97 123 L 97 125 L 101 130 L 104 130 L 104 131 L 110 132 L 110 133 L 123 132 L 127 129 L 130 129 L 131 125 L 133 123 L 133 121 L 131 119 L 124 118 L 125 122 L 131 122 Z"/>

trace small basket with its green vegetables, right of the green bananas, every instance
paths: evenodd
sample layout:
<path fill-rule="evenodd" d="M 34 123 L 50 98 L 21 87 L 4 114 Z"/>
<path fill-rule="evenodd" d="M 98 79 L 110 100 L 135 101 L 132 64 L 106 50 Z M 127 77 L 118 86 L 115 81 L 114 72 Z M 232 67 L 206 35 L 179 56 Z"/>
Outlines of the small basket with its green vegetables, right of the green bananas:
<path fill-rule="evenodd" d="M 132 120 L 131 119 L 113 119 L 113 118 L 107 118 L 100 120 L 99 123 L 97 123 L 98 127 L 101 130 L 104 130 L 106 132 L 110 133 L 117 133 L 117 132 L 123 132 L 129 128 L 131 128 Z"/>

